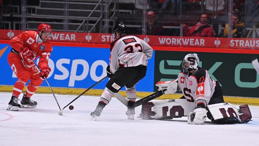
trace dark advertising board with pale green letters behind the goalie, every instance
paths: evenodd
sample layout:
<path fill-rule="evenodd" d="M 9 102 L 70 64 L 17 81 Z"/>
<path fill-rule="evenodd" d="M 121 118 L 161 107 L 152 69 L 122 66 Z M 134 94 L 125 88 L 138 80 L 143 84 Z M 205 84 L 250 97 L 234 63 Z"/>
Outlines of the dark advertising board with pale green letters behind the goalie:
<path fill-rule="evenodd" d="M 156 51 L 154 83 L 177 78 L 188 53 L 198 54 L 199 66 L 220 82 L 224 96 L 259 97 L 259 74 L 251 63 L 253 54 Z M 157 91 L 155 85 L 154 89 Z"/>

